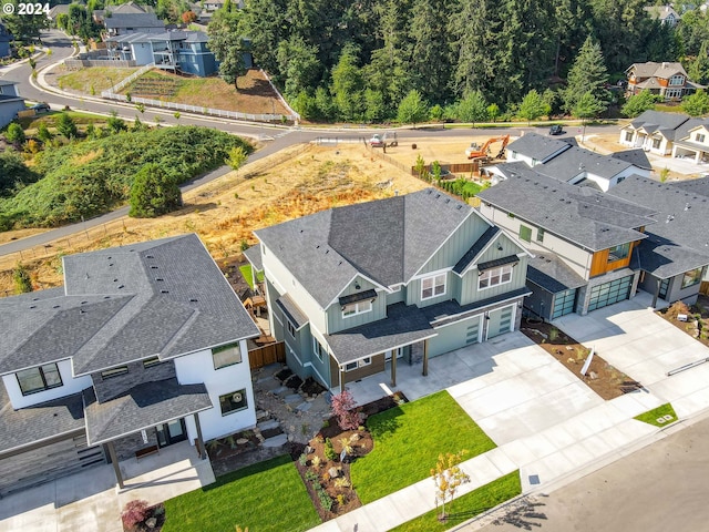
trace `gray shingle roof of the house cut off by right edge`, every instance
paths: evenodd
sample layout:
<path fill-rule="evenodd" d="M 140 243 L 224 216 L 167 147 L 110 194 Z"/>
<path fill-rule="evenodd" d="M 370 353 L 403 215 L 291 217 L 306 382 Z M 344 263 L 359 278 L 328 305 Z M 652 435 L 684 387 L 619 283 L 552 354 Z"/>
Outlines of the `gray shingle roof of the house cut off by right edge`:
<path fill-rule="evenodd" d="M 638 247 L 638 267 L 666 278 L 709 264 L 709 197 L 636 175 L 608 194 L 658 213 Z"/>

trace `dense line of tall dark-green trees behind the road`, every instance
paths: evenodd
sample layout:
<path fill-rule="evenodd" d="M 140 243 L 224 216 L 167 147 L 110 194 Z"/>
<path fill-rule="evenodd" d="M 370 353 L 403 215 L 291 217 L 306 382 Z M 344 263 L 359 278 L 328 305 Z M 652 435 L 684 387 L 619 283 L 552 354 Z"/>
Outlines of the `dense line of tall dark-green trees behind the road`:
<path fill-rule="evenodd" d="M 648 3 L 248 0 L 209 33 L 215 44 L 235 31 L 248 38 L 255 61 L 312 120 L 391 120 L 412 91 L 433 114 L 460 114 L 481 102 L 493 115 L 516 114 L 531 91 L 557 113 L 576 103 L 562 89 L 573 83 L 569 71 L 587 41 L 602 57 L 594 69 L 605 69 L 612 83 L 634 62 L 709 63 L 706 12 L 688 11 L 675 29 L 654 20 Z"/>

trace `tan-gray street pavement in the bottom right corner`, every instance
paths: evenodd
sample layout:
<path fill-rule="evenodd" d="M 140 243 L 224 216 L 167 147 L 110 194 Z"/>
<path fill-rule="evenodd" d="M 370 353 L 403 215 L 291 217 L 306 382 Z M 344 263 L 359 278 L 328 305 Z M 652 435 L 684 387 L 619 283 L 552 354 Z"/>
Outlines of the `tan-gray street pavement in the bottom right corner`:
<path fill-rule="evenodd" d="M 461 531 L 697 532 L 709 530 L 709 418 L 580 480 L 535 495 L 496 522 Z"/>

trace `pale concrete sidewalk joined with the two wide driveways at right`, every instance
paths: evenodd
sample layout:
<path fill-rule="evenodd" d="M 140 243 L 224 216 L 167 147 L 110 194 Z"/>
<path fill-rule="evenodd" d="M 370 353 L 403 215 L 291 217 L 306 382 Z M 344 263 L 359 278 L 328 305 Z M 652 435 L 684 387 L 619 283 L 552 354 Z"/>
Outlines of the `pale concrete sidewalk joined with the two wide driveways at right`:
<path fill-rule="evenodd" d="M 610 401 L 597 397 L 518 332 L 506 335 L 497 346 L 471 346 L 431 360 L 429 379 L 460 379 L 448 387 L 449 392 L 500 446 L 463 462 L 471 482 L 460 495 L 516 469 L 523 493 L 548 493 L 665 437 L 664 430 L 635 416 L 668 401 L 680 420 L 709 408 L 709 364 L 667 377 L 675 367 L 709 357 L 709 349 L 656 316 L 648 308 L 650 299 L 640 293 L 590 315 L 565 316 L 555 323 L 646 385 Z M 499 352 L 491 352 L 495 349 Z M 419 396 L 427 378 L 407 374 L 405 379 L 397 388 L 410 398 Z M 371 382 L 358 385 L 362 392 L 377 388 Z M 424 479 L 312 530 L 383 532 L 434 508 L 432 482 Z"/>

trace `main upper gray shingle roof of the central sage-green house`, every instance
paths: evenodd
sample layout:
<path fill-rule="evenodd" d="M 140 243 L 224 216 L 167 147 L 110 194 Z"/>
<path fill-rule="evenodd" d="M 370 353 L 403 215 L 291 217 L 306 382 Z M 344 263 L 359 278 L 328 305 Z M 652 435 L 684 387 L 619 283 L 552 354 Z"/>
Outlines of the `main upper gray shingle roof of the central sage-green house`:
<path fill-rule="evenodd" d="M 407 283 L 472 213 L 433 188 L 337 207 L 256 232 L 326 308 L 358 274 Z"/>

